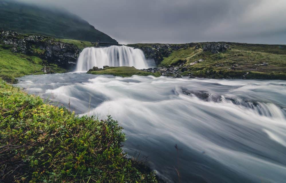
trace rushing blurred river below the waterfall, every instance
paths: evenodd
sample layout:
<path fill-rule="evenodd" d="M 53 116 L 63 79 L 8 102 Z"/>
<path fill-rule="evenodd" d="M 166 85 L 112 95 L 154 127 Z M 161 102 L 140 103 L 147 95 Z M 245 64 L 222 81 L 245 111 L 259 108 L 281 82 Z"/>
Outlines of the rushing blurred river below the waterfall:
<path fill-rule="evenodd" d="M 19 80 L 80 115 L 110 114 L 124 127 L 124 151 L 140 153 L 168 182 L 286 182 L 286 81 L 84 73 Z"/>

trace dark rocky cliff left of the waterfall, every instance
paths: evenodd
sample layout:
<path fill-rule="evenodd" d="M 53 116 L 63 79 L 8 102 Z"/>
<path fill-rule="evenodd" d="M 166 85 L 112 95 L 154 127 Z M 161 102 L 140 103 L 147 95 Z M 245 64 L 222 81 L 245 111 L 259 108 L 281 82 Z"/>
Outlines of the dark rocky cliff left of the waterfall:
<path fill-rule="evenodd" d="M 2 31 L 0 42 L 9 45 L 13 52 L 35 55 L 65 69 L 71 69 L 76 65 L 81 51 L 73 44 L 63 43 L 52 37 L 23 35 L 11 31 Z"/>

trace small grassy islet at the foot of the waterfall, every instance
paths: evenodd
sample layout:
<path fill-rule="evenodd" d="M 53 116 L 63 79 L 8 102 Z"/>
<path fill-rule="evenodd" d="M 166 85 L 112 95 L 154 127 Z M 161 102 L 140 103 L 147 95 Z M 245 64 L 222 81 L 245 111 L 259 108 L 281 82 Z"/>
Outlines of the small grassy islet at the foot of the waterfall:
<path fill-rule="evenodd" d="M 130 77 L 132 75 L 141 75 L 141 76 L 153 75 L 155 77 L 159 77 L 161 75 L 160 73 L 150 73 L 146 71 L 141 71 L 139 69 L 136 69 L 135 67 L 106 67 L 103 70 L 91 71 L 88 73 L 90 74 L 110 74 L 110 75 L 121 76 L 121 77 Z"/>

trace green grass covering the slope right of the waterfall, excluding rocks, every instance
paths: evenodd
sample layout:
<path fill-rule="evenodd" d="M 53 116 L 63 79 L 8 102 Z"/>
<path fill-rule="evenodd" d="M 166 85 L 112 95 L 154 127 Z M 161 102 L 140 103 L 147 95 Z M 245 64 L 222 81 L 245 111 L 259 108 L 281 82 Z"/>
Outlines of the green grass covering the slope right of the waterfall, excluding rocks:
<path fill-rule="evenodd" d="M 183 75 L 193 73 L 197 77 L 241 78 L 248 72 L 246 79 L 286 79 L 285 45 L 228 44 L 232 50 L 218 54 L 195 49 L 195 46 L 179 49 L 164 57 L 159 66 L 179 65 L 186 61 L 183 67 L 188 71 Z M 200 59 L 203 61 L 190 65 Z M 255 66 L 261 63 L 268 65 Z M 238 65 L 235 70 L 233 65 Z"/>

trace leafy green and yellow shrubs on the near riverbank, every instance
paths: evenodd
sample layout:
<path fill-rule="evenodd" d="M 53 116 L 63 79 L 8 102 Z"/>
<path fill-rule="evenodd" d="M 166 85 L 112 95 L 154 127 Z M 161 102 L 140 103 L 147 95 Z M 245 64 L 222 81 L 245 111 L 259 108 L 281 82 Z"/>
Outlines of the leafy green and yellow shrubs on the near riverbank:
<path fill-rule="evenodd" d="M 3 80 L 0 109 L 0 182 L 157 182 L 125 158 L 110 116 L 78 117 Z"/>

